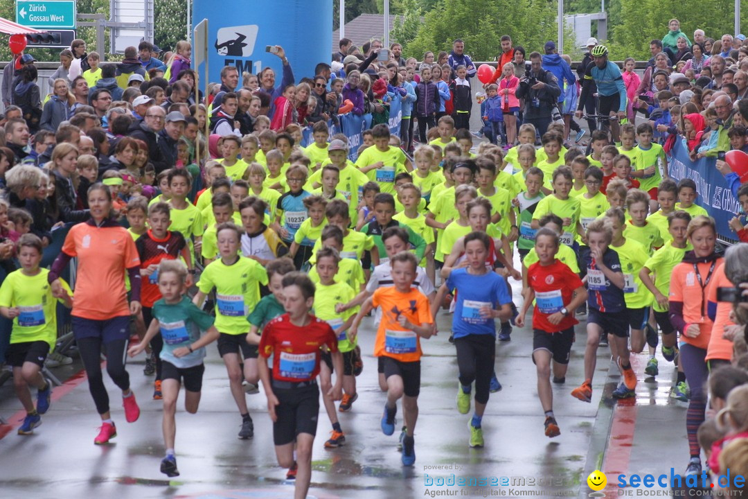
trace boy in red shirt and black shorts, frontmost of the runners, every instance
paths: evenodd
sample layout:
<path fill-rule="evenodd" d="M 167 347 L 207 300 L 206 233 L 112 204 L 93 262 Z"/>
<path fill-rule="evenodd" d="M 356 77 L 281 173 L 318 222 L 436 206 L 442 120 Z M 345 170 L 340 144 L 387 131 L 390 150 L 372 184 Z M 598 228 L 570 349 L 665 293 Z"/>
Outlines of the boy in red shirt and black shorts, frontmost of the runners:
<path fill-rule="evenodd" d="M 343 388 L 343 355 L 337 350 L 332 328 L 309 313 L 314 304 L 314 284 L 301 272 L 283 276 L 283 307 L 280 317 L 272 319 L 263 330 L 260 355 L 273 355 L 272 376 L 267 361 L 258 364 L 260 379 L 268 399 L 273 422 L 273 441 L 278 464 L 297 467 L 294 498 L 304 499 L 312 476 L 312 447 L 319 415 L 320 347 L 331 352 L 338 376 L 328 396 L 340 400 Z M 294 445 L 295 454 L 294 459 Z"/>

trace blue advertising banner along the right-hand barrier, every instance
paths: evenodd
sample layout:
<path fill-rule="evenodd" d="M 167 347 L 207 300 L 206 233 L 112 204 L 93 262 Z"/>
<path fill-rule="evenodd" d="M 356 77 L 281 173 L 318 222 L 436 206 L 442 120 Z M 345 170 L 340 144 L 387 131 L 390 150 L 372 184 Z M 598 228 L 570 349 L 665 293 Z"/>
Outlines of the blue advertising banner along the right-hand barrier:
<path fill-rule="evenodd" d="M 699 197 L 696 203 L 707 210 L 709 216 L 717 222 L 717 234 L 720 239 L 735 241 L 735 232 L 729 227 L 729 221 L 740 210 L 738 200 L 715 166 L 716 159 L 702 158 L 696 162 L 688 156 L 684 141 L 675 141 L 675 147 L 669 158 L 668 173 L 673 180 L 691 179 L 696 183 Z"/>

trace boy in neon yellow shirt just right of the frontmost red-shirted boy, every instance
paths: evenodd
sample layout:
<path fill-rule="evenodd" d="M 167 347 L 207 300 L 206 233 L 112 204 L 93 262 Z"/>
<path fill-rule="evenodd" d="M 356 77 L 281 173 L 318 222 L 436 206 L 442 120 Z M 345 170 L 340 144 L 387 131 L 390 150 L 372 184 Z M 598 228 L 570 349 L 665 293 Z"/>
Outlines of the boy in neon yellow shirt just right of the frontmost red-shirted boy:
<path fill-rule="evenodd" d="M 354 349 L 356 343 L 355 339 L 349 339 L 349 335 L 346 332 L 351 327 L 353 318 L 358 310 L 336 311 L 339 304 L 346 303 L 356 296 L 356 291 L 348 284 L 345 282 L 335 282 L 335 275 L 340 270 L 338 263 L 340 263 L 340 254 L 338 254 L 337 250 L 325 247 L 319 250 L 316 263 L 319 284 L 316 285 L 316 291 L 314 292 L 314 315 L 318 319 L 327 322 L 333 328 L 337 336 L 337 348 L 343 354 L 343 391 L 345 394 L 343 395 L 343 401 L 340 402 L 340 412 L 346 412 L 351 410 L 353 402 L 358 399 L 356 378 L 354 376 Z M 325 447 L 340 447 L 346 441 L 346 435 L 343 433 L 343 429 L 340 428 L 335 404 L 327 395 L 332 386 L 332 358 L 328 352 L 322 352 L 322 360 L 325 361 L 324 364 L 321 364 L 319 373 L 322 383 L 322 401 L 325 403 L 325 410 L 332 424 L 331 436 L 325 442 Z M 338 376 L 340 376 L 340 373 L 338 373 Z"/>

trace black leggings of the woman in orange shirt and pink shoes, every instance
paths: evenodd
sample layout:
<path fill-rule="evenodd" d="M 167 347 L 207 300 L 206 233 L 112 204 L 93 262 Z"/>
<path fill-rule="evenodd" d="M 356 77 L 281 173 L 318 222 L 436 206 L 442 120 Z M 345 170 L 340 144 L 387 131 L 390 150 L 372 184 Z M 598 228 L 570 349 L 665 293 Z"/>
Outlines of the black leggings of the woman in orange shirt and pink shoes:
<path fill-rule="evenodd" d="M 101 373 L 102 340 L 98 337 L 79 338 L 78 349 L 81 353 L 83 367 L 88 376 L 88 390 L 91 391 L 96 412 L 104 414 L 109 411 L 109 395 L 106 393 Z M 130 388 L 130 378 L 125 370 L 127 340 L 113 340 L 104 345 L 106 355 L 106 372 L 121 390 Z"/>

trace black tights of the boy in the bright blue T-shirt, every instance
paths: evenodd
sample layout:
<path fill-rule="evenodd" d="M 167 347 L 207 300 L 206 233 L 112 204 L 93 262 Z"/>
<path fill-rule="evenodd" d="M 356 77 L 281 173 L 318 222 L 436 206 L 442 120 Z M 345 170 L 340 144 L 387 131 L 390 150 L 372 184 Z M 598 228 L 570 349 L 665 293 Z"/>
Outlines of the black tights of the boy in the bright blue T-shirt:
<path fill-rule="evenodd" d="M 474 381 L 475 401 L 485 404 L 494 373 L 496 340 L 491 334 L 468 334 L 455 338 L 455 346 L 460 384 L 470 386 Z"/>

